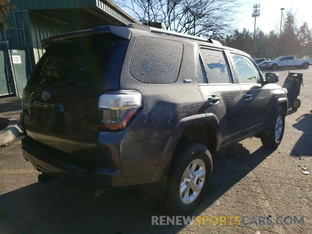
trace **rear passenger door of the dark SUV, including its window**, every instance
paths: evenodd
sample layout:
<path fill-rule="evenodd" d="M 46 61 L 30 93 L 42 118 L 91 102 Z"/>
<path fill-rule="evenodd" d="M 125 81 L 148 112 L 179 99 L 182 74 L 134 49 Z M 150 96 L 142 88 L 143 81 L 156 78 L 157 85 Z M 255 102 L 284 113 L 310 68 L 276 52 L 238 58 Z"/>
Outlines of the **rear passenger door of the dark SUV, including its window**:
<path fill-rule="evenodd" d="M 224 146 L 238 139 L 241 132 L 242 92 L 233 83 L 232 67 L 223 50 L 200 48 L 198 85 L 205 104 L 205 112 L 217 116 L 220 124 L 220 144 Z"/>

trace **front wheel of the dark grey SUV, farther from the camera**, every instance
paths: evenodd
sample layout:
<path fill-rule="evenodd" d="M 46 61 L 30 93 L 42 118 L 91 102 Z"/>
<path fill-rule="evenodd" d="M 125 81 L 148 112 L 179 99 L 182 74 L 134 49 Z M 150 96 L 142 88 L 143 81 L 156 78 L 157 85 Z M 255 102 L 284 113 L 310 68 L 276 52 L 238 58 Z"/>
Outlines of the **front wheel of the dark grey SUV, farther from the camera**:
<path fill-rule="evenodd" d="M 279 120 L 282 120 L 282 122 L 279 125 L 279 128 L 281 128 L 281 129 L 279 129 L 279 128 L 276 129 L 276 124 L 277 124 L 278 118 L 280 118 Z M 269 134 L 267 134 L 261 138 L 262 144 L 268 148 L 277 148 L 283 139 L 284 129 L 285 129 L 285 111 L 283 110 L 282 107 L 278 107 L 274 116 L 273 116 L 273 119 L 272 119 L 272 122 L 270 125 L 270 129 L 269 129 L 269 131 L 270 131 Z M 279 130 L 279 134 L 275 135 L 275 131 L 277 131 L 277 130 Z"/>

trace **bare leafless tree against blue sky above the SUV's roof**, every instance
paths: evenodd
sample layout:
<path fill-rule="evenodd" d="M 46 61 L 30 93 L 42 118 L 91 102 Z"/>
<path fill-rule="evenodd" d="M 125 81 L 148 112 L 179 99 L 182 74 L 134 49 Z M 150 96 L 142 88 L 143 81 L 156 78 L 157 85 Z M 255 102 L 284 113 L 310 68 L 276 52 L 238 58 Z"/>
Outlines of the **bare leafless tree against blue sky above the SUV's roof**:
<path fill-rule="evenodd" d="M 141 22 L 162 22 L 167 30 L 222 37 L 233 30 L 238 0 L 116 0 Z"/>

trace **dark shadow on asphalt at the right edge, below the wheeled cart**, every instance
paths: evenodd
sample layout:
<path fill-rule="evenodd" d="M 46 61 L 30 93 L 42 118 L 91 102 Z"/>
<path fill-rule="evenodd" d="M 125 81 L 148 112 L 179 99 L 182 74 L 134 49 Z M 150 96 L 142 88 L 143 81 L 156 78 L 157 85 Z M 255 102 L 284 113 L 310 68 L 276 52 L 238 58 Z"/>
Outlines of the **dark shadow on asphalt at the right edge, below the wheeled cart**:
<path fill-rule="evenodd" d="M 303 131 L 290 155 L 294 157 L 312 156 L 312 114 L 301 115 L 293 127 Z"/>

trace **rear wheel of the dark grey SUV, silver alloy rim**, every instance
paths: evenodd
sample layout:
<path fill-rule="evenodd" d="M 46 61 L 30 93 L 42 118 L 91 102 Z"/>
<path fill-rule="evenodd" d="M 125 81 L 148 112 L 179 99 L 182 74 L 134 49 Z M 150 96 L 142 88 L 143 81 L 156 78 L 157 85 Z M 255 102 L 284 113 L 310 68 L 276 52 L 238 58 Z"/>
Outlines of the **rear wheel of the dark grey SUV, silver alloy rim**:
<path fill-rule="evenodd" d="M 191 181 L 185 182 L 183 177 L 187 173 L 187 168 L 193 169 L 192 163 L 193 166 L 196 164 L 200 166 L 195 168 L 195 175 L 200 175 L 202 172 L 198 168 L 202 168 L 202 170 L 204 170 L 206 173 L 203 177 L 188 177 L 188 179 Z M 191 173 L 191 175 L 192 174 L 193 173 Z M 164 197 L 166 201 L 165 205 L 167 212 L 169 212 L 171 215 L 181 216 L 188 216 L 193 213 L 204 199 L 207 193 L 207 189 L 210 187 L 211 178 L 212 157 L 207 147 L 203 144 L 194 143 L 189 140 L 180 141 L 173 155 L 173 161 L 171 162 L 171 167 L 168 174 Z M 180 186 L 182 186 L 182 181 L 184 182 L 183 187 L 186 188 L 185 191 L 188 191 L 188 193 L 191 194 L 189 199 L 193 199 L 193 201 L 186 199 L 185 192 L 182 194 L 180 193 Z M 188 188 L 187 185 L 189 186 L 190 184 L 193 185 Z M 194 186 L 196 184 L 197 186 Z M 196 195 L 196 192 L 194 193 L 192 190 L 195 188 L 201 188 L 198 195 Z M 182 201 L 183 198 L 184 202 Z"/>

